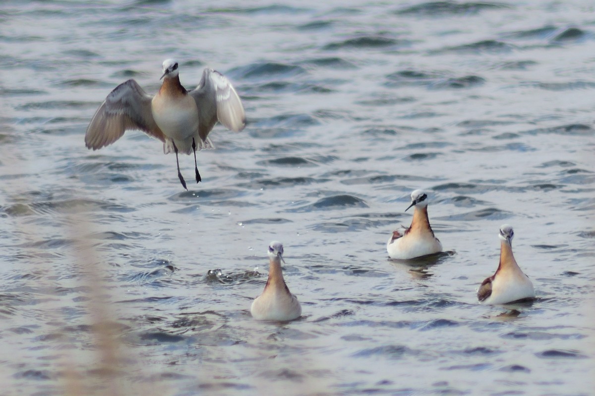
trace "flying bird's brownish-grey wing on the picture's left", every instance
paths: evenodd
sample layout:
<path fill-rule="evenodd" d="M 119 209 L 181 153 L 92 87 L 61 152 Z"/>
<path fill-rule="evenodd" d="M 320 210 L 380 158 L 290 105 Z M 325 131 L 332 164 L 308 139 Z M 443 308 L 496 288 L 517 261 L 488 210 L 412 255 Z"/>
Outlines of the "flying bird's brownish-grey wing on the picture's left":
<path fill-rule="evenodd" d="M 129 129 L 140 129 L 165 141 L 165 135 L 153 118 L 151 99 L 134 80 L 115 87 L 99 106 L 87 127 L 84 135 L 87 148 L 97 150 L 112 144 Z"/>

